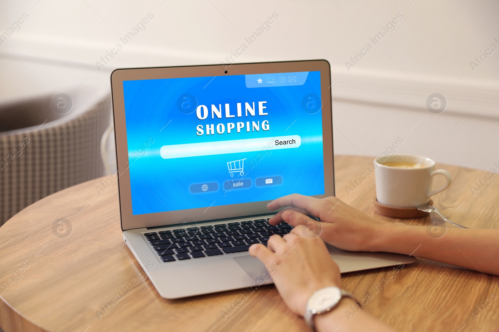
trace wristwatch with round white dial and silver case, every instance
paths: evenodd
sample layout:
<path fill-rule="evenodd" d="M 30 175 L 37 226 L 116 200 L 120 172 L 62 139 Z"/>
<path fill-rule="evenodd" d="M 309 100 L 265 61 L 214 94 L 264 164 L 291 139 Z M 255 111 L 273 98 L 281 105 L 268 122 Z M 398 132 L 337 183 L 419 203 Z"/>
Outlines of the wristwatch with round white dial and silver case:
<path fill-rule="evenodd" d="M 329 312 L 334 309 L 341 301 L 343 297 L 350 297 L 357 301 L 357 299 L 347 291 L 340 289 L 338 287 L 324 287 L 315 291 L 307 301 L 307 310 L 305 312 L 305 322 L 307 323 L 310 330 L 317 332 L 315 330 L 315 325 L 313 323 L 313 318 L 315 315 L 320 315 Z M 358 301 L 357 303 L 362 308 L 362 304 Z"/>

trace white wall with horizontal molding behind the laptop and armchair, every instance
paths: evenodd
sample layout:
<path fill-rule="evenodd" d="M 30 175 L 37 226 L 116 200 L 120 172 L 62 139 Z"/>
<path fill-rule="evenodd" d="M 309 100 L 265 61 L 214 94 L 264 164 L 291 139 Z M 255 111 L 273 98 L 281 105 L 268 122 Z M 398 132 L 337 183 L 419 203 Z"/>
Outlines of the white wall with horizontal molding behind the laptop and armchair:
<path fill-rule="evenodd" d="M 499 162 L 499 49 L 470 65 L 499 47 L 496 0 L 38 1 L 0 4 L 0 33 L 29 15 L 0 45 L 0 98 L 67 85 L 109 89 L 116 67 L 227 62 L 244 43 L 237 62 L 330 62 L 335 153 L 379 155 L 402 137 L 397 153 L 482 169 Z M 145 30 L 125 45 L 120 37 L 148 13 Z M 245 38 L 272 13 L 278 18 L 250 45 Z M 374 45 L 369 38 L 398 13 Z M 99 71 L 117 43 L 123 49 Z M 348 70 L 366 43 L 372 49 Z M 441 114 L 426 109 L 433 93 L 447 99 Z"/>

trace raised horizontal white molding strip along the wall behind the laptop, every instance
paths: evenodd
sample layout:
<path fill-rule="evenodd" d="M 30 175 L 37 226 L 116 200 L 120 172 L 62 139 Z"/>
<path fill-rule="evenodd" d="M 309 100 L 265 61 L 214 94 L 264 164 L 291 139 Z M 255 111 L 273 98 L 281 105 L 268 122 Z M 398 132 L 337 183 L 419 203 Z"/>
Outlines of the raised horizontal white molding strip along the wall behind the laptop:
<path fill-rule="evenodd" d="M 0 45 L 0 57 L 87 68 L 109 75 L 115 68 L 220 63 L 225 55 L 213 52 L 186 53 L 181 50 L 125 45 L 118 55 L 99 71 L 95 64 L 109 51 L 109 44 L 79 43 L 60 39 L 18 36 Z M 286 60 L 286 59 L 285 59 Z M 375 72 L 331 67 L 333 102 L 355 103 L 398 110 L 424 111 L 433 93 L 447 100 L 446 114 L 499 120 L 499 80 L 476 80 L 473 75 L 456 77 L 422 76 L 410 73 Z M 334 111 L 334 110 L 333 110 Z"/>

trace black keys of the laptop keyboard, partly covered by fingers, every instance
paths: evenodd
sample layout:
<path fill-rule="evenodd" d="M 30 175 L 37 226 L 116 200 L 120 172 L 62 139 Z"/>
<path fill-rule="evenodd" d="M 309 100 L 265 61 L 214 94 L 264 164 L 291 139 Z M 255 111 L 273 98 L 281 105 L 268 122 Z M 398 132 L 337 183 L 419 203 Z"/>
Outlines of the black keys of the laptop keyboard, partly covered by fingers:
<path fill-rule="evenodd" d="M 293 227 L 285 222 L 272 226 L 268 219 L 218 223 L 143 233 L 163 262 L 218 256 L 248 251 L 274 234 L 284 235 Z"/>

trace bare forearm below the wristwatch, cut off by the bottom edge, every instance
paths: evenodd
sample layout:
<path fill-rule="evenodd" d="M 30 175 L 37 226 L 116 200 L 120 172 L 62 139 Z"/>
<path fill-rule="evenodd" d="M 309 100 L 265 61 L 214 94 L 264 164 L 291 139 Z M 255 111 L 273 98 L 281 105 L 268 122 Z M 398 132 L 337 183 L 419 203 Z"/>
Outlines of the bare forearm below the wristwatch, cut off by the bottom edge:
<path fill-rule="evenodd" d="M 374 319 L 363 309 L 359 309 L 357 303 L 348 298 L 341 300 L 338 307 L 330 313 L 317 315 L 314 322 L 318 332 L 394 331 Z"/>

